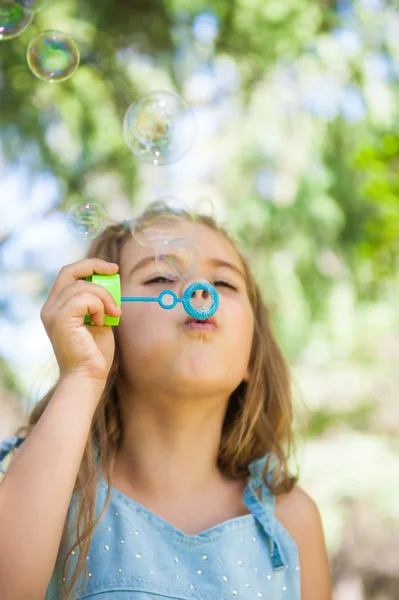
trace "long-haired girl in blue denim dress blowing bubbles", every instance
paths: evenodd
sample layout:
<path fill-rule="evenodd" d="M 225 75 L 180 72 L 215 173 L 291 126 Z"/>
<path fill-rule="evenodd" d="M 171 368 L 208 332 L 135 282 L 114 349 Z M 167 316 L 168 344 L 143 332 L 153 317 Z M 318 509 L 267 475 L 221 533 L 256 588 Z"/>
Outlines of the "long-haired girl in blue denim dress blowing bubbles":
<path fill-rule="evenodd" d="M 162 277 L 154 248 L 112 225 L 43 306 L 59 379 L 1 446 L 1 598 L 331 600 L 320 515 L 287 468 L 289 371 L 248 264 L 209 217 L 150 206 L 142 234 L 154 218 L 195 231 L 189 278 Z M 213 323 L 181 303 L 121 315 L 84 280 L 118 271 L 124 296 L 209 281 Z"/>

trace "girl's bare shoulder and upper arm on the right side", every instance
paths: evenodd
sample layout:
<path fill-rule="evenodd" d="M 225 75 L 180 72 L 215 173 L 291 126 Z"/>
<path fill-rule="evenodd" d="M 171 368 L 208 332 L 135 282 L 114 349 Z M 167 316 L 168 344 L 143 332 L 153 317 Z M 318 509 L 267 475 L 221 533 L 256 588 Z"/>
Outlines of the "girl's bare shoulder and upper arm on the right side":
<path fill-rule="evenodd" d="M 299 486 L 276 498 L 276 518 L 298 548 L 301 598 L 331 600 L 327 549 L 316 502 Z"/>

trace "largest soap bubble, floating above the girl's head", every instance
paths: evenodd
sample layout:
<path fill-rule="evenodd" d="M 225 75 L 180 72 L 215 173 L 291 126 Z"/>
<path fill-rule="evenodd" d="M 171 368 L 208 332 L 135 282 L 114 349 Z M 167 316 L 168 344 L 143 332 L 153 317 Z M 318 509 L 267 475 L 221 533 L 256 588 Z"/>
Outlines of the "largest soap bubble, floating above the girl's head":
<path fill-rule="evenodd" d="M 123 135 L 133 154 L 153 165 L 179 160 L 194 143 L 197 122 L 177 94 L 152 92 L 129 106 Z"/>

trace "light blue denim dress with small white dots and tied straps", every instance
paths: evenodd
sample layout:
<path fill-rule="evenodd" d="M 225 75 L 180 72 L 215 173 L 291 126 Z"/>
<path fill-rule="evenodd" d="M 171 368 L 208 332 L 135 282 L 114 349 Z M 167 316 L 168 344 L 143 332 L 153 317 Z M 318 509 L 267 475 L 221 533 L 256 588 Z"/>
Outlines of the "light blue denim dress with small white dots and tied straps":
<path fill-rule="evenodd" d="M 0 464 L 23 438 L 0 444 Z M 250 465 L 243 492 L 249 515 L 187 535 L 116 488 L 93 534 L 89 580 L 76 600 L 300 600 L 298 549 L 274 515 L 275 497 L 261 474 L 267 455 Z M 273 463 L 272 465 L 273 466 Z M 3 471 L 4 472 L 4 471 Z M 259 500 L 255 489 L 261 486 Z M 107 484 L 100 480 L 96 516 Z M 68 524 L 75 502 L 72 497 Z M 61 598 L 61 566 L 72 526 L 60 546 L 46 600 Z M 77 553 L 68 561 L 68 576 Z M 83 578 L 78 582 L 83 582 Z"/>

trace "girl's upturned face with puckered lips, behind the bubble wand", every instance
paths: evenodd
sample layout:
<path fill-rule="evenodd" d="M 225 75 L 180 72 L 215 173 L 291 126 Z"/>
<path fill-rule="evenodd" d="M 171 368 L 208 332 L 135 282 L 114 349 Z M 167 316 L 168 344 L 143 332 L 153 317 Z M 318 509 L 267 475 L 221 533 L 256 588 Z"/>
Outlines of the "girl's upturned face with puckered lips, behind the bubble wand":
<path fill-rule="evenodd" d="M 154 256 L 154 247 L 140 246 L 132 238 L 122 248 L 119 264 L 122 296 L 157 297 L 169 289 L 181 298 L 190 283 L 202 279 L 215 286 L 220 299 L 214 314 L 217 327 L 213 331 L 185 326 L 189 315 L 181 302 L 170 310 L 157 302 L 122 304 L 118 327 L 121 366 L 133 393 L 148 393 L 158 388 L 160 392 L 181 396 L 228 397 L 246 378 L 254 318 L 241 259 L 222 234 L 205 225 L 196 227 L 198 264 L 186 281 L 151 282 L 161 277 L 155 261 L 133 272 L 132 269 L 142 259 Z M 184 233 L 175 226 L 172 234 L 176 238 L 186 236 L 187 224 Z M 228 266 L 215 266 L 214 259 L 230 263 L 239 272 Z"/>

